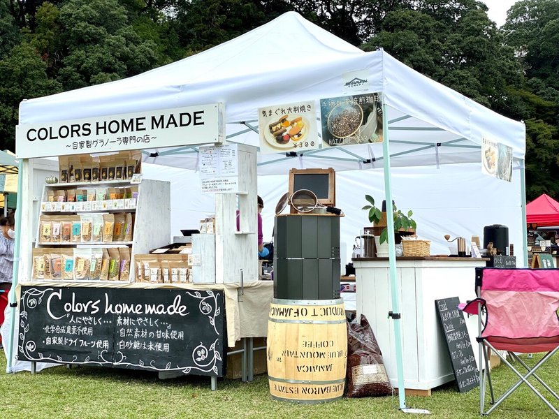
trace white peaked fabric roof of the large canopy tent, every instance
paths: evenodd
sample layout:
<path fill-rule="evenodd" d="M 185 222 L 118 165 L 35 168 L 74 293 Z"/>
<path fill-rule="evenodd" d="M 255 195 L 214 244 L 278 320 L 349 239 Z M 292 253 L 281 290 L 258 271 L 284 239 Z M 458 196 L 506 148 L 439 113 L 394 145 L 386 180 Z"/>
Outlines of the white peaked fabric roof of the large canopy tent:
<path fill-rule="evenodd" d="M 521 122 L 484 108 L 382 50 L 363 52 L 295 12 L 132 78 L 23 101 L 20 124 L 221 102 L 229 140 L 258 146 L 258 108 L 345 96 L 342 75 L 351 71 L 364 71 L 369 91 L 382 92 L 392 166 L 479 162 L 481 170 L 481 135 L 512 147 L 516 163 L 524 159 Z M 157 154 L 147 158 L 150 163 L 197 168 L 192 147 L 152 152 Z M 379 143 L 324 147 L 298 153 L 296 159 L 259 154 L 259 174 L 284 173 L 294 166 L 374 168 L 382 166 L 382 158 Z"/>

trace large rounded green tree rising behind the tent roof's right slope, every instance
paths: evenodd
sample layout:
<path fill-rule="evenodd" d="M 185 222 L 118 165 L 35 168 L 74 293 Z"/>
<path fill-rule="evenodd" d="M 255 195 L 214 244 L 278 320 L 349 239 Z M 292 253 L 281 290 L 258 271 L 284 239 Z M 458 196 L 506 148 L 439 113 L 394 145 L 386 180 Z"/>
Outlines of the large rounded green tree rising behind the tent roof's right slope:
<path fill-rule="evenodd" d="M 402 4 L 400 4 L 400 7 Z M 386 13 L 364 50 L 384 50 L 415 70 L 500 111 L 504 88 L 521 84 L 514 51 L 478 1 L 412 1 Z"/>

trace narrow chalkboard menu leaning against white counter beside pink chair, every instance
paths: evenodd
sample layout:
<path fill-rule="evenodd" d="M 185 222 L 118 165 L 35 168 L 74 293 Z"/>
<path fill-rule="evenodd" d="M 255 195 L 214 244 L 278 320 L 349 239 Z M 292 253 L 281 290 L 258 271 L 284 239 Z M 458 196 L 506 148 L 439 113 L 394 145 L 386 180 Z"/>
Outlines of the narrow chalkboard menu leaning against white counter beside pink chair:
<path fill-rule="evenodd" d="M 435 308 L 449 348 L 458 391 L 467 392 L 479 385 L 479 371 L 464 314 L 456 308 L 459 303 L 458 297 L 444 298 L 435 300 Z"/>

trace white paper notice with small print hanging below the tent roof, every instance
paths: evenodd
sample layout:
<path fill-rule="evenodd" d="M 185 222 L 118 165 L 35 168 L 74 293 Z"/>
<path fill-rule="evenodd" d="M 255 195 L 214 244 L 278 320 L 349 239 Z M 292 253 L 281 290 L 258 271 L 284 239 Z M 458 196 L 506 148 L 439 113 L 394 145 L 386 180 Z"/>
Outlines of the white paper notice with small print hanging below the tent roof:
<path fill-rule="evenodd" d="M 200 147 L 202 193 L 235 193 L 239 191 L 238 147 Z"/>

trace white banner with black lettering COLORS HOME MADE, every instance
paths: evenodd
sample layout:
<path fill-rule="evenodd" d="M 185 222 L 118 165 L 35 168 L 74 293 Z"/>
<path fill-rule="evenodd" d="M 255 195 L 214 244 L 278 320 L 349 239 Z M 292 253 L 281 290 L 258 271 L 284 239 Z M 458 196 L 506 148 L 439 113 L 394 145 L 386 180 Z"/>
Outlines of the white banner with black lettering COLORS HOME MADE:
<path fill-rule="evenodd" d="M 199 145 L 222 142 L 219 103 L 72 119 L 16 127 L 18 158 Z"/>

